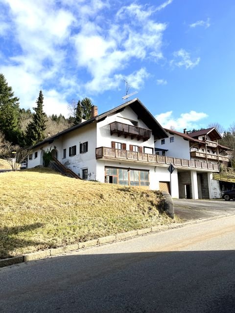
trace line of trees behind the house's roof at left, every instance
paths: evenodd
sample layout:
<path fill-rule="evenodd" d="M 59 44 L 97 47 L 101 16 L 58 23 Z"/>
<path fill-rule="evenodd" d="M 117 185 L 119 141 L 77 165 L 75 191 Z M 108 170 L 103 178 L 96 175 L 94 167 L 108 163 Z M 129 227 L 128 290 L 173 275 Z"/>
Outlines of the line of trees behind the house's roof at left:
<path fill-rule="evenodd" d="M 91 117 L 92 101 L 90 98 L 79 100 L 76 105 L 71 104 L 71 115 L 65 118 L 62 114 L 47 116 L 44 112 L 44 96 L 42 90 L 36 100 L 36 106 L 30 109 L 20 108 L 20 99 L 14 95 L 12 87 L 4 75 L 0 74 L 0 133 L 4 140 L 30 147 L 47 136 L 63 131 L 73 125 L 81 123 L 83 119 Z"/>

